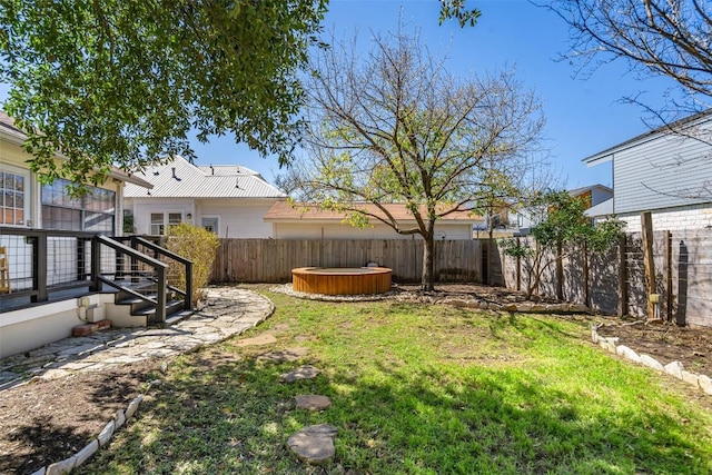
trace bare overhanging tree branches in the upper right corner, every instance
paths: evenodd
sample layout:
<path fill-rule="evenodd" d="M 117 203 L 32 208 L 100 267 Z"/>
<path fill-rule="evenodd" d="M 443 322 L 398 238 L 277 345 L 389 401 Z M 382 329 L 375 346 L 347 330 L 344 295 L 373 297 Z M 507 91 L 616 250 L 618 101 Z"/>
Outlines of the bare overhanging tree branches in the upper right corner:
<path fill-rule="evenodd" d="M 554 0 L 546 7 L 570 26 L 566 59 L 591 72 L 612 60 L 627 61 L 645 77 L 669 77 L 682 95 L 665 110 L 650 107 L 665 123 L 710 107 L 712 98 L 712 3 L 708 0 Z M 637 98 L 626 98 L 642 105 Z M 643 105 L 644 106 L 644 105 Z"/>

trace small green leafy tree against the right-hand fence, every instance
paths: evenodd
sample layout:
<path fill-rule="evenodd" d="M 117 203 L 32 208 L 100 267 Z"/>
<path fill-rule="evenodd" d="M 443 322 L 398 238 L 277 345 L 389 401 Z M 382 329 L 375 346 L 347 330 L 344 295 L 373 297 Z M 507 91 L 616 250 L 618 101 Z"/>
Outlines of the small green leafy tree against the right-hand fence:
<path fill-rule="evenodd" d="M 587 207 L 585 199 L 572 197 L 567 191 L 548 191 L 531 202 L 533 215 L 544 217 L 532 228 L 534 243 L 502 240 L 505 255 L 526 259 L 526 298 L 536 293 L 544 271 L 556 260 L 580 253 L 602 253 L 619 241 L 625 224 L 610 219 L 594 225 L 584 215 Z"/>

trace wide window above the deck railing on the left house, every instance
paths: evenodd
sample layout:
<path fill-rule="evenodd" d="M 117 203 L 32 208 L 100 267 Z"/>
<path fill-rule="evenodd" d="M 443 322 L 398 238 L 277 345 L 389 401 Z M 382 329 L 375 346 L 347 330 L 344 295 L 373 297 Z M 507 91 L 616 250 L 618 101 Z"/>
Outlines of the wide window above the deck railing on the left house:
<path fill-rule="evenodd" d="M 67 185 L 69 181 L 58 179 L 42 186 L 42 227 L 113 234 L 116 192 L 88 187 L 87 195 L 70 197 Z"/>

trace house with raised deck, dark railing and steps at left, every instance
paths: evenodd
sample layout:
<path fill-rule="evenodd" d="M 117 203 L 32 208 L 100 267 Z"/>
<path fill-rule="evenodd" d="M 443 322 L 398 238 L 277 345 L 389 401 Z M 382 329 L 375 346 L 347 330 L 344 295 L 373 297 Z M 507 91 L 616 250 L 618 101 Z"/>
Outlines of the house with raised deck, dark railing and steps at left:
<path fill-rule="evenodd" d="M 115 326 L 165 323 L 170 311 L 190 305 L 182 293 L 179 299 L 171 299 L 168 309 L 166 281 L 156 280 L 156 274 L 149 276 L 152 288 L 159 289 L 156 295 L 148 296 L 137 286 L 134 294 L 140 301 L 119 301 L 125 296 L 121 291 L 140 280 L 129 274 L 136 259 L 146 274 L 164 266 L 138 250 L 141 243 L 121 237 L 125 186 L 146 191 L 151 185 L 113 168 L 103 184 L 89 186 L 89 194 L 72 198 L 65 180 L 40 184 L 29 169 L 24 139 L 14 121 L 0 111 L 0 254 L 4 259 L 0 357 L 28 352 L 70 336 L 77 326 L 107 319 Z M 62 159 L 58 154 L 57 160 Z M 155 251 L 162 256 L 160 248 Z M 164 286 L 157 287 L 157 281 Z M 139 309 L 144 310 L 140 316 Z"/>

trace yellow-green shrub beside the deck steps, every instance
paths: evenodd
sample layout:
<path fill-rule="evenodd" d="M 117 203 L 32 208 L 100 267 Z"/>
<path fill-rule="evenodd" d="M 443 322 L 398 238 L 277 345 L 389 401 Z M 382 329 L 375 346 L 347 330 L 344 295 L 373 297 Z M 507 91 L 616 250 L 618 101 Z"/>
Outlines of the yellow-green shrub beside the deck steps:
<path fill-rule="evenodd" d="M 205 297 L 204 288 L 208 285 L 215 261 L 215 250 L 219 245 L 220 239 L 215 232 L 198 226 L 181 222 L 168 228 L 166 248 L 192 261 L 194 303 L 202 300 Z M 170 285 L 186 288 L 186 276 L 182 268 L 181 264 L 171 260 L 168 268 Z"/>

